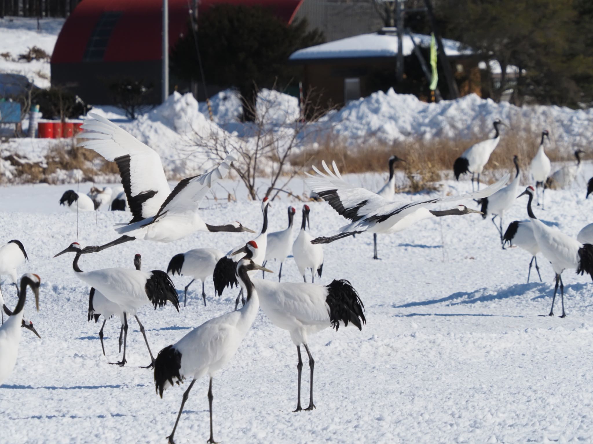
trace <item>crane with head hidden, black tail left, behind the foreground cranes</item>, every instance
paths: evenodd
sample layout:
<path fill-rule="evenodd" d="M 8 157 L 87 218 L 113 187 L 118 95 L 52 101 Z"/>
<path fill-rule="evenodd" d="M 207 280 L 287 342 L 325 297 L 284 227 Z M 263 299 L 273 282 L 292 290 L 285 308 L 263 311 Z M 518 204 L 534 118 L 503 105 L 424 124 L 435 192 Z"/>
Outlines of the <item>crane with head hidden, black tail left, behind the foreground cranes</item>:
<path fill-rule="evenodd" d="M 183 306 L 186 306 L 187 289 L 193 281 L 200 279 L 202 281 L 202 298 L 204 307 L 206 307 L 206 291 L 204 290 L 204 281 L 212 276 L 216 263 L 224 257 L 224 253 L 216 248 L 196 248 L 185 253 L 179 253 L 173 256 L 167 266 L 167 273 L 175 276 L 192 276 L 192 281 L 184 289 Z"/>

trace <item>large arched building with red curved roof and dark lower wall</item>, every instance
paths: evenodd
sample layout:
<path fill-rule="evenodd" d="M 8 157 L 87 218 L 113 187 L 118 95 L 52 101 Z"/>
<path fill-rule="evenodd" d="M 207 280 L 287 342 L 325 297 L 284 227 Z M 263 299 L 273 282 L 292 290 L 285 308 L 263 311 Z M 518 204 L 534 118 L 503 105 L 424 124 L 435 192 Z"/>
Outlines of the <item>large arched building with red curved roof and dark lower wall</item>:
<path fill-rule="evenodd" d="M 200 0 L 269 8 L 290 23 L 302 0 Z M 168 0 L 169 47 L 187 32 L 195 0 Z M 53 86 L 63 86 L 94 104 L 111 104 L 109 84 L 125 78 L 152 83 L 160 103 L 162 0 L 84 0 L 68 17 L 51 60 Z M 170 78 L 173 91 L 174 79 Z"/>

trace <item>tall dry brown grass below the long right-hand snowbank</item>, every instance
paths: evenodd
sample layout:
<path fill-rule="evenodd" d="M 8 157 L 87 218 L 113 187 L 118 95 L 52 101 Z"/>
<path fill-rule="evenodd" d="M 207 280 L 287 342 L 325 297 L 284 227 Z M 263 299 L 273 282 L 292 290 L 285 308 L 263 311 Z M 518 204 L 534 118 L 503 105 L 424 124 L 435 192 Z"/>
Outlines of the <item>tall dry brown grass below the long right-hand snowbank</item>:
<path fill-rule="evenodd" d="M 537 152 L 541 133 L 533 133 L 515 122 L 511 128 L 502 128 L 500 143 L 490 156 L 481 181 L 493 182 L 506 172 L 514 174 L 513 156 L 519 157 L 519 168 L 522 170 L 524 183 L 528 183 L 529 163 Z M 409 184 L 401 191 L 420 191 L 434 189 L 435 182 L 453 177 L 452 166 L 468 147 L 484 138 L 473 140 L 452 139 L 410 139 L 393 144 L 373 140 L 361 143 L 358 147 L 346 144 L 337 137 L 329 138 L 318 146 L 305 149 L 298 156 L 291 159 L 293 165 L 310 168 L 335 160 L 343 173 L 380 172 L 387 170 L 387 159 L 397 155 L 406 160 L 398 163 L 397 168 L 403 169 Z M 547 144 L 546 154 L 552 162 L 573 160 L 574 157 L 566 150 L 556 149 L 554 143 Z M 462 180 L 469 179 L 469 177 Z"/>

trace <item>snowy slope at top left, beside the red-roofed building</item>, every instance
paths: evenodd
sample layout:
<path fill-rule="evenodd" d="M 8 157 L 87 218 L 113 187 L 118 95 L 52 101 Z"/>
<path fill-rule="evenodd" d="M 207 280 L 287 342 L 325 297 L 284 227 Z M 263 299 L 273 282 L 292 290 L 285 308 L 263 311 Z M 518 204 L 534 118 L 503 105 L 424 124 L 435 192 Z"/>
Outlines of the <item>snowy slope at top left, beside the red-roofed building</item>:
<path fill-rule="evenodd" d="M 37 46 L 50 56 L 58 40 L 65 18 L 5 17 L 0 18 L 0 72 L 15 73 L 27 76 L 39 88 L 50 86 L 49 60 L 18 60 L 20 54 Z"/>

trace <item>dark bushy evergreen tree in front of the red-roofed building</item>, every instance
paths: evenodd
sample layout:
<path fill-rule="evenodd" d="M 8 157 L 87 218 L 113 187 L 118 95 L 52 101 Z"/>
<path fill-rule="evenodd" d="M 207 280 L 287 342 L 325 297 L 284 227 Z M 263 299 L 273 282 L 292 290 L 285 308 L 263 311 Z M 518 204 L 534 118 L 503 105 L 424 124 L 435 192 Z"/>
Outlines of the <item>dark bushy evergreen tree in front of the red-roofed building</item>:
<path fill-rule="evenodd" d="M 262 7 L 213 5 L 200 14 L 197 25 L 206 83 L 237 88 L 245 120 L 254 118 L 256 88 L 286 86 L 295 76 L 287 63 L 292 52 L 323 43 L 323 34 L 308 30 L 306 21 L 286 25 Z M 191 28 L 178 41 L 171 65 L 180 78 L 202 81 Z"/>

